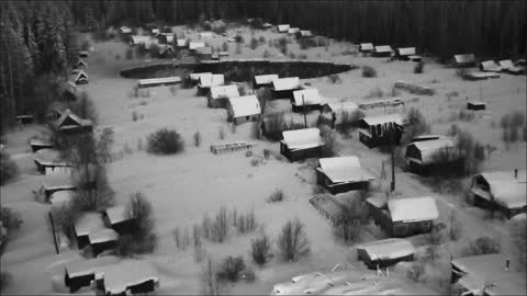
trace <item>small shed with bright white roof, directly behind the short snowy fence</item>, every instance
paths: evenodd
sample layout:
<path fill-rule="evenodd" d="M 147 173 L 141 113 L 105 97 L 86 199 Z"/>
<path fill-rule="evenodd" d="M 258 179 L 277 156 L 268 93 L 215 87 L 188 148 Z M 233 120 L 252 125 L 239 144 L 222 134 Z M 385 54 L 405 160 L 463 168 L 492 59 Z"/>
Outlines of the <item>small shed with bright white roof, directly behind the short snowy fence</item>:
<path fill-rule="evenodd" d="M 256 122 L 261 116 L 260 102 L 256 95 L 228 98 L 227 121 L 234 124 Z"/>

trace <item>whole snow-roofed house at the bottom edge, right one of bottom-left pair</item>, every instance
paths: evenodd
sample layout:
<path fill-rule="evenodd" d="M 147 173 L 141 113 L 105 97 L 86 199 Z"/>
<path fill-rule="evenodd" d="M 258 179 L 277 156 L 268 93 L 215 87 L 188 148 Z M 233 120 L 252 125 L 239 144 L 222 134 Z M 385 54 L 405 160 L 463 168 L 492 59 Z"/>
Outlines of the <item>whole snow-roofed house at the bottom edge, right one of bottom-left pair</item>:
<path fill-rule="evenodd" d="M 126 260 L 109 265 L 96 275 L 99 295 L 147 295 L 159 286 L 156 270 L 143 260 Z"/>

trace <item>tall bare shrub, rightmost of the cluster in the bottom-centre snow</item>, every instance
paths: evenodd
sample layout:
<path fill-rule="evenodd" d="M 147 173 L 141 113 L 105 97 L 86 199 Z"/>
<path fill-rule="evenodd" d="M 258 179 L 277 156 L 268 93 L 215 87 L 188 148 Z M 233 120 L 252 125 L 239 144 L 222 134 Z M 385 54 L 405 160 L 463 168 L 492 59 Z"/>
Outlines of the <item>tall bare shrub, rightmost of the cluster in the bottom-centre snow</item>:
<path fill-rule="evenodd" d="M 277 247 L 283 261 L 296 261 L 309 254 L 310 242 L 305 234 L 305 226 L 299 218 L 285 223 L 280 232 Z"/>

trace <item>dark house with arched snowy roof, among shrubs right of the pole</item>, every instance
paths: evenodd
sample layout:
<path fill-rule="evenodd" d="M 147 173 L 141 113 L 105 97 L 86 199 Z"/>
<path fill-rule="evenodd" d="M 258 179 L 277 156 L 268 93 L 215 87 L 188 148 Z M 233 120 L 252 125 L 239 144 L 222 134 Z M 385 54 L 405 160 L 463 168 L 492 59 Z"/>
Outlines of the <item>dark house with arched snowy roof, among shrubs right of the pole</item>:
<path fill-rule="evenodd" d="M 404 158 L 412 172 L 427 174 L 438 168 L 446 168 L 458 156 L 456 144 L 449 137 L 417 140 L 406 146 Z"/>

